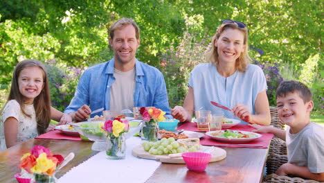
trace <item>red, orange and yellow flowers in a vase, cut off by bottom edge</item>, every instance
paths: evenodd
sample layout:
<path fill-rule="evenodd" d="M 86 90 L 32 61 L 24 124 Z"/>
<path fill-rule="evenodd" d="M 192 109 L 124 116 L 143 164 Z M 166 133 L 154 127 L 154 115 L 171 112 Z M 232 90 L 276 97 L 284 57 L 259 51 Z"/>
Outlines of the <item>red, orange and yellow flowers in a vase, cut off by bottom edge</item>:
<path fill-rule="evenodd" d="M 62 155 L 53 155 L 48 148 L 34 146 L 30 153 L 21 157 L 21 177 L 30 178 L 30 182 L 56 182 L 55 171 L 63 162 Z"/>

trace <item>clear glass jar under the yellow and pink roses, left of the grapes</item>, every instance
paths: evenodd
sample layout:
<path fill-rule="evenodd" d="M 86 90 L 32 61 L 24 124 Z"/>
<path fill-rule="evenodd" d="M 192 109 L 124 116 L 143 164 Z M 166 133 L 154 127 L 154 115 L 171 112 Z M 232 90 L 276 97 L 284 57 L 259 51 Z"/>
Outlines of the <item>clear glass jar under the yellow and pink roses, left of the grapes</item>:
<path fill-rule="evenodd" d="M 124 134 L 119 137 L 108 136 L 106 145 L 107 159 L 125 159 L 126 139 Z"/>

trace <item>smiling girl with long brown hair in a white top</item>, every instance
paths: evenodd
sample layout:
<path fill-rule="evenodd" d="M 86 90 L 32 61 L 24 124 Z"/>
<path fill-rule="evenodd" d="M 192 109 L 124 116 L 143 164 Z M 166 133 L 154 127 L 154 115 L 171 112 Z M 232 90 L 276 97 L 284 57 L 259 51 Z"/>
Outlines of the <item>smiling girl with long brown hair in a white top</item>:
<path fill-rule="evenodd" d="M 48 126 L 51 119 L 60 121 L 58 124 L 71 122 L 71 116 L 51 107 L 42 62 L 19 62 L 12 75 L 10 94 L 0 119 L 0 150 L 53 130 L 55 125 Z"/>

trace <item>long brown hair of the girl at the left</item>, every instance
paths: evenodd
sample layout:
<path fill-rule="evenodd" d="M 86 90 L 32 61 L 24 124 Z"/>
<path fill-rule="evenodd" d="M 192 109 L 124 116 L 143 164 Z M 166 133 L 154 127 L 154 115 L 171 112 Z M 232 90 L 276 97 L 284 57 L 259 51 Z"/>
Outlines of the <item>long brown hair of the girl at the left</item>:
<path fill-rule="evenodd" d="M 46 132 L 46 128 L 48 128 L 48 125 L 51 121 L 51 96 L 49 94 L 47 72 L 42 62 L 40 62 L 39 60 L 30 59 L 21 61 L 17 64 L 15 71 L 12 74 L 11 89 L 8 96 L 8 101 L 16 100 L 20 105 L 21 112 L 28 117 L 31 116 L 24 110 L 24 96 L 19 92 L 18 85 L 19 74 L 26 67 L 39 67 L 39 69 L 41 69 L 43 73 L 44 87 L 40 94 L 36 96 L 36 98 L 34 98 L 33 104 L 36 114 L 37 132 L 38 134 L 43 134 L 44 132 Z"/>

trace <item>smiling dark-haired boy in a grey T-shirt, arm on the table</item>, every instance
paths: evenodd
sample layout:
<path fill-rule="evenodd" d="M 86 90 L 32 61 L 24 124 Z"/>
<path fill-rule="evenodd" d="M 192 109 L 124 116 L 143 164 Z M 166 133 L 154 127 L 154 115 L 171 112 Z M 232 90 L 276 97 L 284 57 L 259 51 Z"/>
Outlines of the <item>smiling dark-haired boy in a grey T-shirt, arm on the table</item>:
<path fill-rule="evenodd" d="M 277 175 L 296 175 L 324 181 L 324 128 L 310 121 L 314 107 L 312 93 L 301 82 L 282 81 L 276 92 L 277 110 L 287 131 L 253 124 L 254 132 L 273 133 L 286 141 L 288 163 L 282 164 Z"/>

